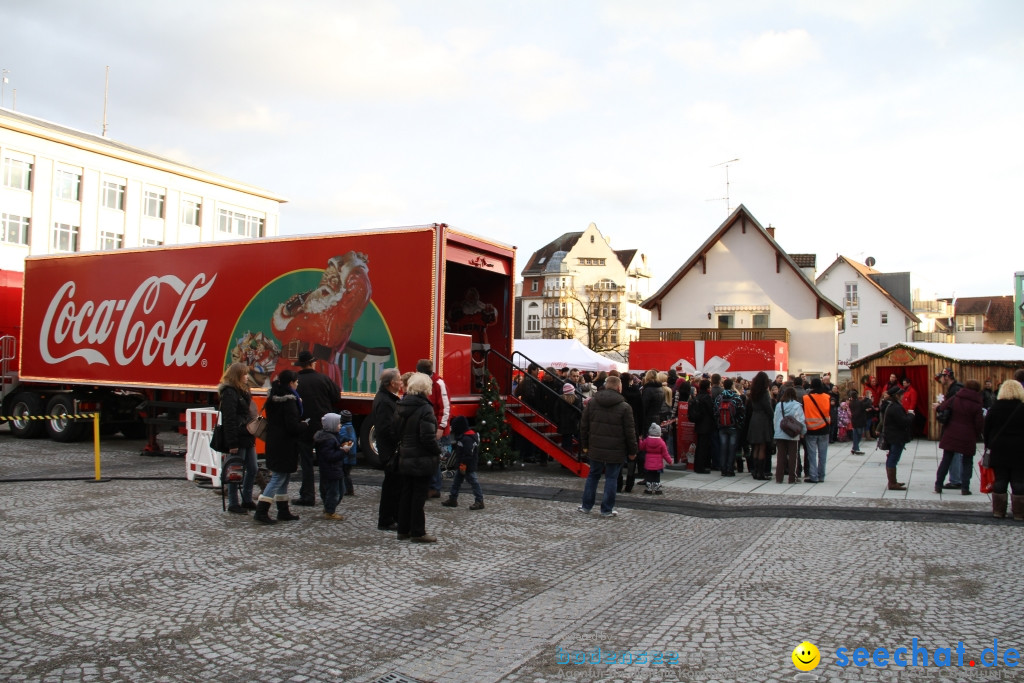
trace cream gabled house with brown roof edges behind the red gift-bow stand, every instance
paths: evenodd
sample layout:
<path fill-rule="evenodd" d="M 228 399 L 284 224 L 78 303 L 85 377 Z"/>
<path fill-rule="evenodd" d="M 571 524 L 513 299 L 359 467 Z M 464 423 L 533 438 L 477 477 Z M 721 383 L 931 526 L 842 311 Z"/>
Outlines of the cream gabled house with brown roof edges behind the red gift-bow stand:
<path fill-rule="evenodd" d="M 835 375 L 843 308 L 818 290 L 774 232 L 737 207 L 643 302 L 652 328 L 645 337 L 780 340 L 788 344 L 791 374 Z"/>

